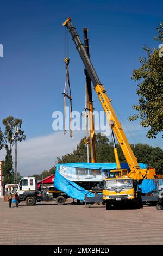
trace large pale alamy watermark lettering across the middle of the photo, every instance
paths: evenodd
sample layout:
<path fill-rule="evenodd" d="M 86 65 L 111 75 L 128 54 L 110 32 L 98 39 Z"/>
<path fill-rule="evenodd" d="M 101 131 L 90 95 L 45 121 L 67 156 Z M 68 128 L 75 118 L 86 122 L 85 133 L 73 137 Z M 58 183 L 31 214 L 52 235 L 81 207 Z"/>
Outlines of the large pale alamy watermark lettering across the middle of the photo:
<path fill-rule="evenodd" d="M 89 116 L 90 113 L 88 113 Z M 70 108 L 66 107 L 66 115 L 61 111 L 54 111 L 52 114 L 52 118 L 54 118 L 52 123 L 52 128 L 54 131 L 64 131 L 66 127 L 66 131 L 85 131 L 86 130 L 86 112 L 83 111 L 82 113 L 78 111 L 72 111 L 72 123 L 71 123 L 71 113 Z M 94 111 L 93 112 L 94 118 L 94 126 L 95 131 L 100 131 L 104 135 L 110 135 L 110 126 L 108 121 L 110 121 L 110 113 L 108 112 L 107 115 L 104 111 Z M 88 118 L 89 120 L 89 118 Z M 92 130 L 90 127 L 90 122 L 88 122 L 88 130 Z"/>

